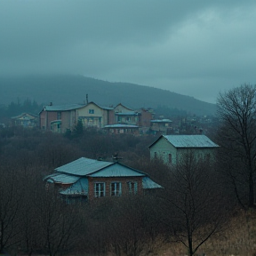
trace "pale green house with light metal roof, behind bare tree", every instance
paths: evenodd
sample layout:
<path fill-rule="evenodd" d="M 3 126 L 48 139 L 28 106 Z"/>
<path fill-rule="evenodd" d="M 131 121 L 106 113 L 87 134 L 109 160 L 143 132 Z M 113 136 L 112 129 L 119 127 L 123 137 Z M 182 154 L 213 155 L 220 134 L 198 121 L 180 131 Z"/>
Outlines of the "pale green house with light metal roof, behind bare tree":
<path fill-rule="evenodd" d="M 197 159 L 213 160 L 219 146 L 205 135 L 161 135 L 148 148 L 151 160 L 162 159 L 164 164 L 177 164 L 188 150 Z"/>

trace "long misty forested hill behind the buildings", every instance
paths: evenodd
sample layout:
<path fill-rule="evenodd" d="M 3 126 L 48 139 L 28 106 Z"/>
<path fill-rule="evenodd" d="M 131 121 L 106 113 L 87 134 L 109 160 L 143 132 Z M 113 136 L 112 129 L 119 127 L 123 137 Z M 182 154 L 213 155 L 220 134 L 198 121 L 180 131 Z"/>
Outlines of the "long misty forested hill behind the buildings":
<path fill-rule="evenodd" d="M 177 108 L 190 114 L 211 115 L 216 106 L 193 97 L 149 86 L 110 83 L 84 76 L 0 76 L 0 104 L 36 100 L 39 104 L 54 105 L 84 103 L 101 106 L 123 103 L 130 108 Z"/>

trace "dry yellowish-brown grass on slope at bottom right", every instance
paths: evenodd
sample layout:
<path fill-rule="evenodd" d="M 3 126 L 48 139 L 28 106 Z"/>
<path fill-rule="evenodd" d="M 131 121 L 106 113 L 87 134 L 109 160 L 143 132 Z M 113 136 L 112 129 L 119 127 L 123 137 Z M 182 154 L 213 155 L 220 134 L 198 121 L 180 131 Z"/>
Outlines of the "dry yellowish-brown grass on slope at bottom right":
<path fill-rule="evenodd" d="M 162 246 L 161 246 L 162 247 Z M 165 244 L 153 255 L 184 256 L 182 244 Z M 256 256 L 256 210 L 239 212 L 222 234 L 212 236 L 196 252 L 198 256 Z"/>

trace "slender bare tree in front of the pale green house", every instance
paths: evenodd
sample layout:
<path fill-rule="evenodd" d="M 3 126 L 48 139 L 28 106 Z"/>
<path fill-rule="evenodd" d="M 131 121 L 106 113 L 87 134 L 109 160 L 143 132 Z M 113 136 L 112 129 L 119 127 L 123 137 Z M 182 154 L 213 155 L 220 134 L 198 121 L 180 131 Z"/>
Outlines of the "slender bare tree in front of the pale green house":
<path fill-rule="evenodd" d="M 208 161 L 196 159 L 192 151 L 166 176 L 160 208 L 161 220 L 169 227 L 173 242 L 194 255 L 228 220 L 228 200 Z"/>

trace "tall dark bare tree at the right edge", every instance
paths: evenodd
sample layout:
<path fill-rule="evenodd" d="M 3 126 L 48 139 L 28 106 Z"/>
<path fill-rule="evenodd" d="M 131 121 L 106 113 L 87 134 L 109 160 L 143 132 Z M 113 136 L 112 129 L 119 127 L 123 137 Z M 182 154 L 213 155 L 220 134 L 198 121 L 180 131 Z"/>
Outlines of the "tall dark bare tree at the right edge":
<path fill-rule="evenodd" d="M 252 207 L 256 173 L 256 86 L 244 84 L 220 93 L 217 104 L 221 121 L 218 132 L 221 171 L 228 174 L 238 202 Z"/>

